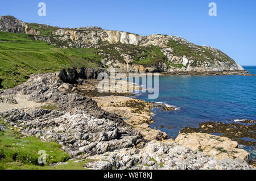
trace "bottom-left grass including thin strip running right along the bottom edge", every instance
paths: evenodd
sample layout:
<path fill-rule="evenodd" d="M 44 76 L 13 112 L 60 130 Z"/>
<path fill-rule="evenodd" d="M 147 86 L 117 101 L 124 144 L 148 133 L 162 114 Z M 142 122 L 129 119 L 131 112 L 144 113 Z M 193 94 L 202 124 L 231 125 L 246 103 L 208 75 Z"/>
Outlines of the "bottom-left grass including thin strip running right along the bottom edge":
<path fill-rule="evenodd" d="M 46 165 L 38 163 L 39 150 L 45 150 Z M 42 142 L 35 137 L 21 137 L 19 132 L 5 129 L 0 132 L 0 170 L 81 170 L 86 162 L 74 163 L 56 142 Z M 66 162 L 67 161 L 67 162 Z M 66 162 L 65 165 L 48 166 L 50 163 Z"/>

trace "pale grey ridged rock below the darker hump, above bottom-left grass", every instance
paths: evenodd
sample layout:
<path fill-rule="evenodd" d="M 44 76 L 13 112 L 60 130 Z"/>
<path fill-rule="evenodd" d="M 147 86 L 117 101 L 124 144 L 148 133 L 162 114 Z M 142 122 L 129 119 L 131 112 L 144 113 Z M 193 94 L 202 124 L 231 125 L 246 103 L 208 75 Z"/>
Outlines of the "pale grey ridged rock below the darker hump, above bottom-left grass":
<path fill-rule="evenodd" d="M 109 119 L 96 119 L 82 111 L 20 109 L 0 113 L 26 136 L 43 141 L 56 140 L 72 157 L 84 158 L 123 148 L 133 148 L 141 141 L 136 131 Z"/>

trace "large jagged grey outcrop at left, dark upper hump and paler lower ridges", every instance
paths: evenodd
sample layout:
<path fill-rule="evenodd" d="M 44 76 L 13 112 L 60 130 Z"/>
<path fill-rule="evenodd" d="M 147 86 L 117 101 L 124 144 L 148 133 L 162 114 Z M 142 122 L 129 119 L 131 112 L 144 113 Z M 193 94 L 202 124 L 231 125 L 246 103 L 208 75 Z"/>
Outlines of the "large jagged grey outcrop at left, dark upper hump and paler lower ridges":
<path fill-rule="evenodd" d="M 19 109 L 0 113 L 7 123 L 28 136 L 56 140 L 73 157 L 135 147 L 144 139 L 121 117 L 101 110 L 91 98 L 59 90 L 63 85 L 55 74 L 33 75 L 23 85 L 5 94 L 30 95 L 29 100 L 56 104 L 58 110 Z"/>

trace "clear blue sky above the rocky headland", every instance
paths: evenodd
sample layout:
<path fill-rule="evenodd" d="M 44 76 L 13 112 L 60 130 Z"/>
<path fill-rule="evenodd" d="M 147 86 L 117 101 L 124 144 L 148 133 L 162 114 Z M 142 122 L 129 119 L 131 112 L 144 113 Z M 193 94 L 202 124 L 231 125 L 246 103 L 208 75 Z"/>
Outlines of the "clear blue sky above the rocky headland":
<path fill-rule="evenodd" d="M 38 3 L 47 16 L 38 16 Z M 217 16 L 209 16 L 209 3 Z M 197 45 L 218 48 L 240 65 L 256 65 L 256 1 L 235 0 L 9 0 L 0 15 L 59 27 L 99 26 L 141 35 L 181 36 Z"/>

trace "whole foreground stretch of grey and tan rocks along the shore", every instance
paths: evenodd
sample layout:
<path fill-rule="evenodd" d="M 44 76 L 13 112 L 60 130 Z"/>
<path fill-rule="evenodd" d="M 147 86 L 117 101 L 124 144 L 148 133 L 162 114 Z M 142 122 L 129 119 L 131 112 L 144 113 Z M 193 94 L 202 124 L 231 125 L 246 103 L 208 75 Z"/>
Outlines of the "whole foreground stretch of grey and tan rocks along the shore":
<path fill-rule="evenodd" d="M 90 98 L 81 89 L 84 85 L 64 83 L 52 73 L 32 75 L 1 96 L 27 95 L 30 101 L 56 108 L 3 111 L 0 119 L 5 125 L 1 129 L 15 128 L 23 136 L 55 140 L 72 158 L 92 159 L 84 165 L 87 169 L 251 169 L 248 153 L 237 149 L 235 141 L 225 138 L 220 142 L 230 145 L 225 149 L 236 149 L 237 154 L 219 150 L 225 154 L 218 157 L 219 152 L 189 148 L 184 139 L 164 140 L 166 134 L 149 126 L 150 109 L 160 105 L 125 96 Z"/>

